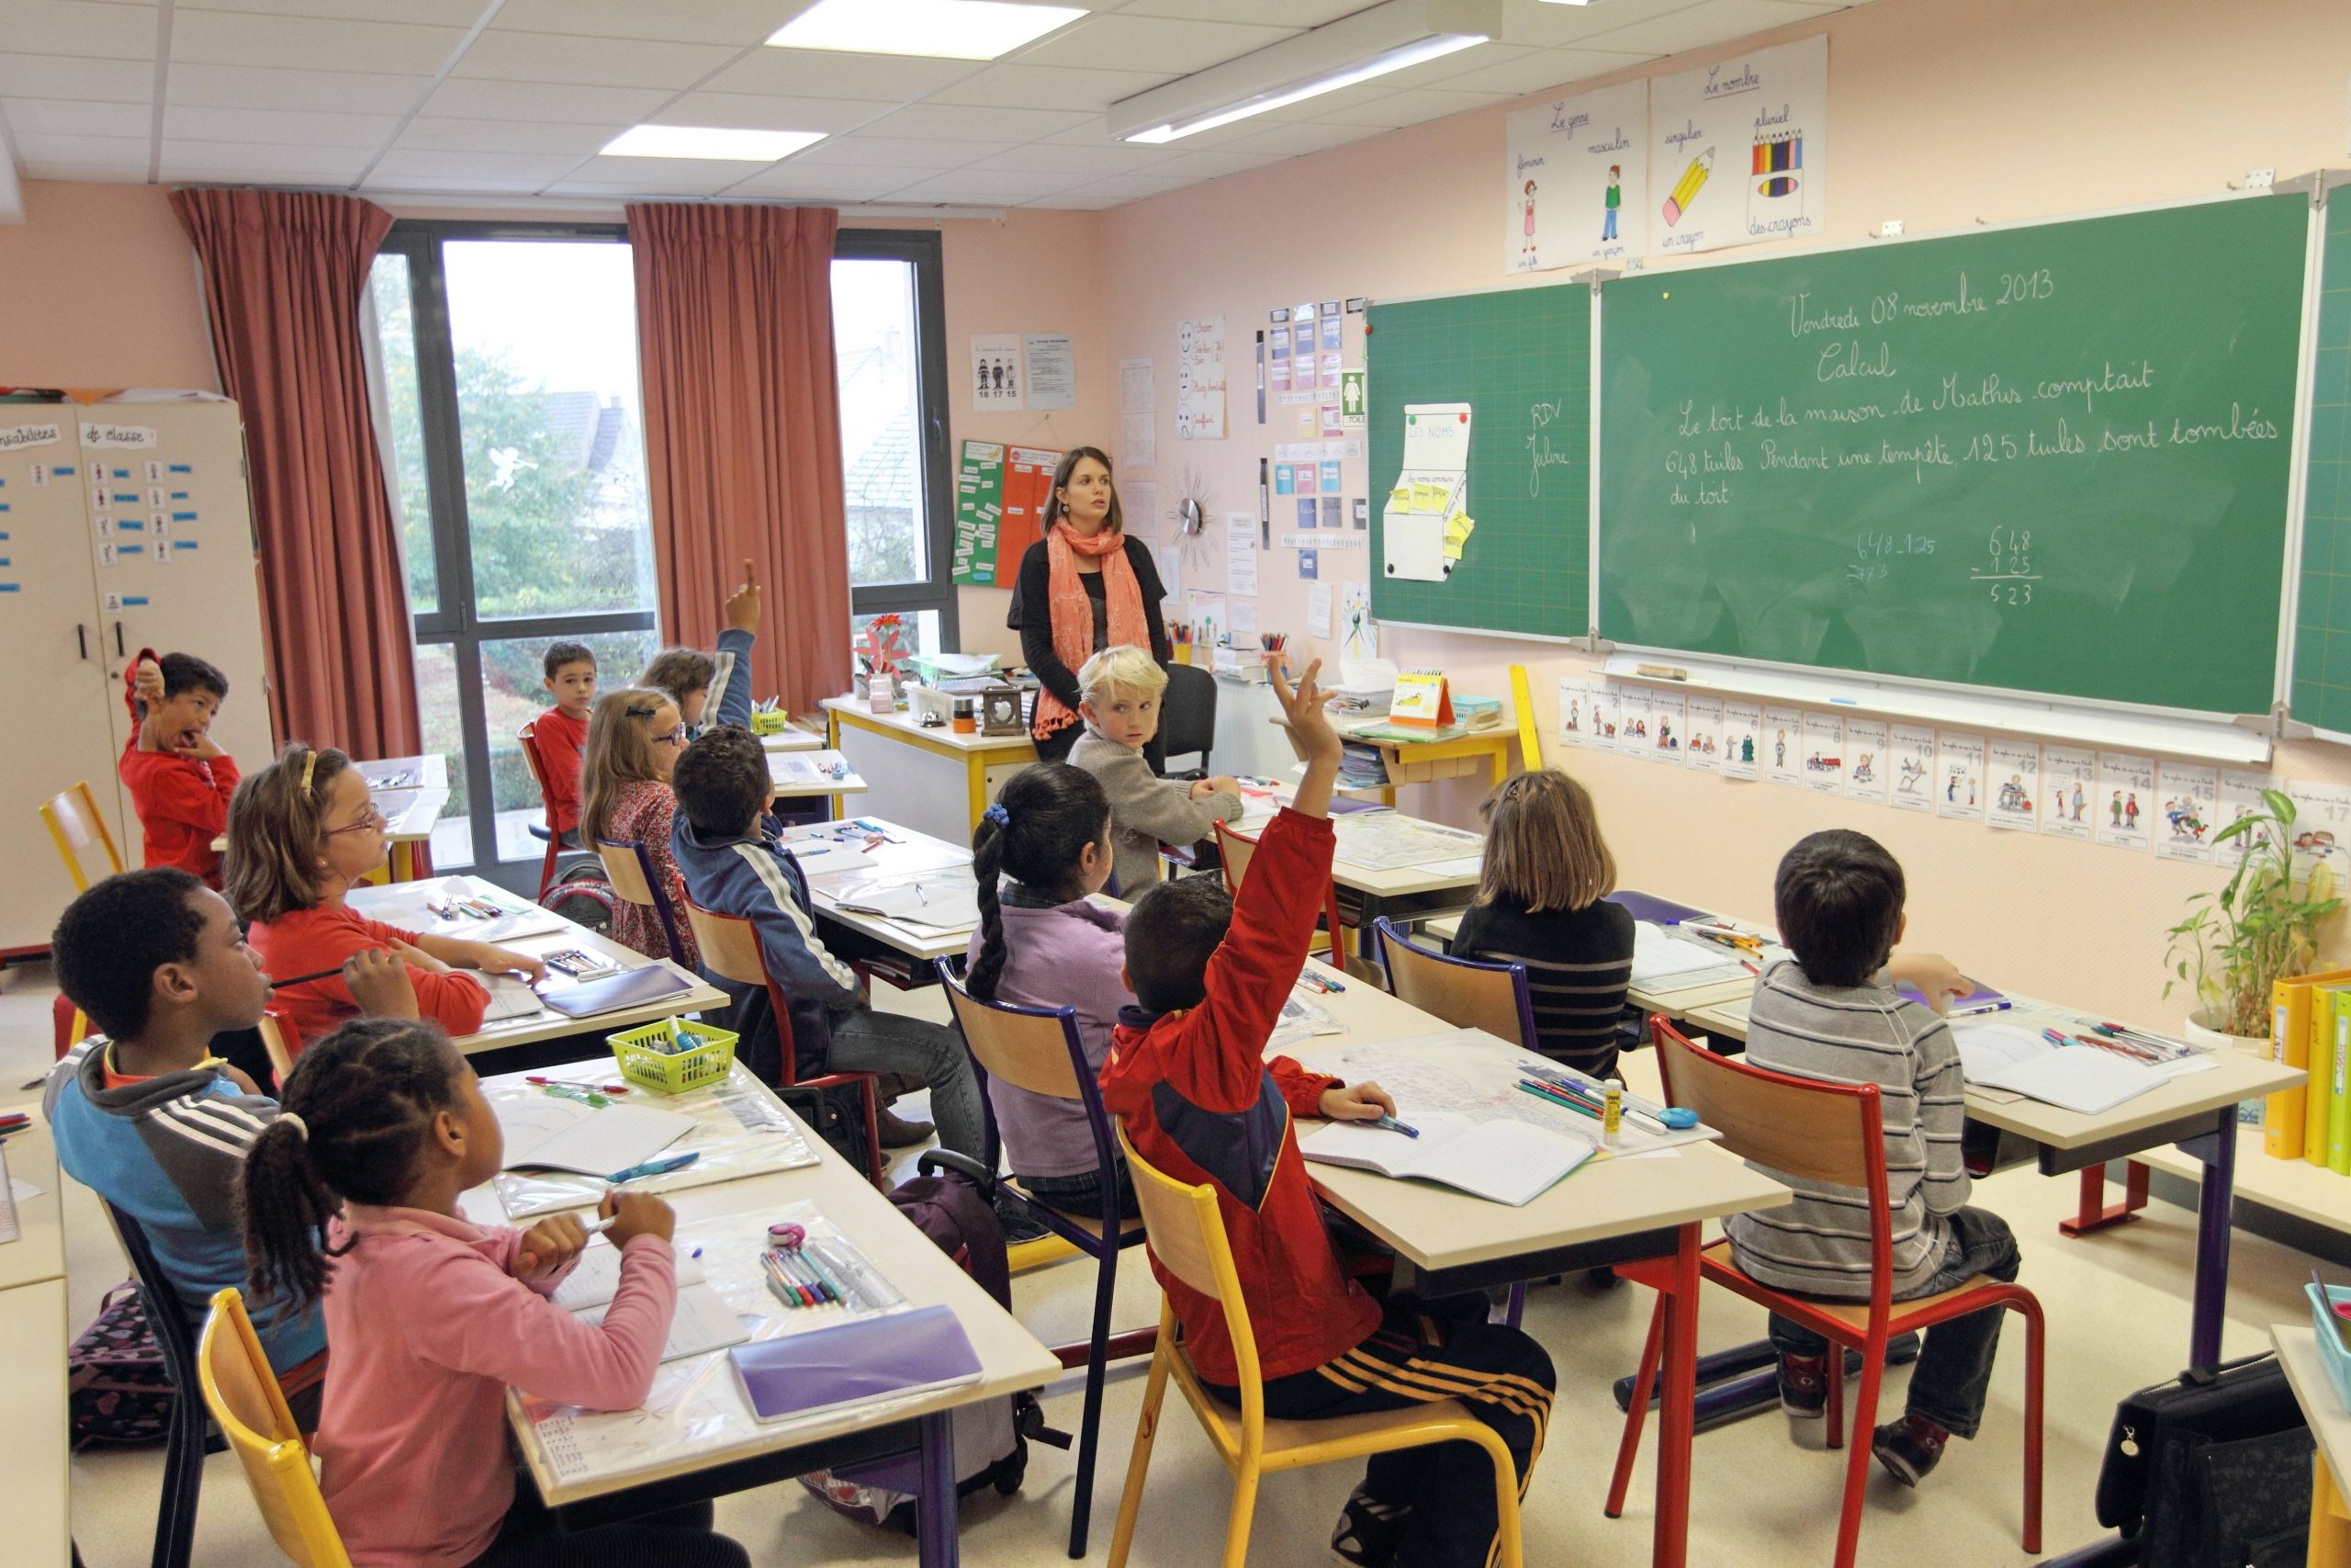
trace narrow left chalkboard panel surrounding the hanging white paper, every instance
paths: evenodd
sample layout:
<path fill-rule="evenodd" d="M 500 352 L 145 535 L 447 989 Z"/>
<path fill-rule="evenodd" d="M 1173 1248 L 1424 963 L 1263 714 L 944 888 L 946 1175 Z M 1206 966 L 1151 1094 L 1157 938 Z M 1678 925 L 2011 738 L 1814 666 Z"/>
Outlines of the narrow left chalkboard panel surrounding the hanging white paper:
<path fill-rule="evenodd" d="M 1592 630 L 1592 287 L 1498 289 L 1366 313 L 1371 614 L 1528 637 Z M 1441 583 L 1387 571 L 1406 404 L 1467 402 L 1476 522 Z"/>

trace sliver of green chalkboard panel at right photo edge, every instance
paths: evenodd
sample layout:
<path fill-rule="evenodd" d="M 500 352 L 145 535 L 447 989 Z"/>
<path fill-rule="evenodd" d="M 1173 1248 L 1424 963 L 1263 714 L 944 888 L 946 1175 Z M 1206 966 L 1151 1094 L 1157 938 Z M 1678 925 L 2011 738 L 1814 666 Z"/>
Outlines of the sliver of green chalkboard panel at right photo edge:
<path fill-rule="evenodd" d="M 2311 470 L 2302 503 L 2290 708 L 2304 724 L 2351 731 L 2351 186 L 2325 212 L 2311 381 Z"/>

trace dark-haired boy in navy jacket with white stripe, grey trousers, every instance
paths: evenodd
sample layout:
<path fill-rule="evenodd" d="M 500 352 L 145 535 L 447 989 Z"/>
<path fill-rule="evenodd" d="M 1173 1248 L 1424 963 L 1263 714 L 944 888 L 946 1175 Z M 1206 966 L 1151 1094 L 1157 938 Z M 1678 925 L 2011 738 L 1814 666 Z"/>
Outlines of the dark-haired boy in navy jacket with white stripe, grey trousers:
<path fill-rule="evenodd" d="M 778 844 L 776 820 L 766 813 L 776 783 L 759 738 L 748 729 L 712 729 L 677 757 L 670 788 L 677 792 L 670 853 L 686 879 L 686 896 L 712 914 L 736 914 L 759 931 L 766 971 L 783 987 L 792 1013 L 797 1077 L 917 1077 L 931 1088 L 938 1143 L 985 1159 L 980 1086 L 971 1077 L 964 1041 L 945 1025 L 875 1011 L 858 973 L 816 936 L 809 882 Z M 776 1030 L 766 1023 L 766 992 L 734 985 L 708 969 L 703 973 L 743 1009 L 738 1018 L 750 1025 L 743 1037 L 752 1072 L 776 1081 L 783 1058 Z"/>

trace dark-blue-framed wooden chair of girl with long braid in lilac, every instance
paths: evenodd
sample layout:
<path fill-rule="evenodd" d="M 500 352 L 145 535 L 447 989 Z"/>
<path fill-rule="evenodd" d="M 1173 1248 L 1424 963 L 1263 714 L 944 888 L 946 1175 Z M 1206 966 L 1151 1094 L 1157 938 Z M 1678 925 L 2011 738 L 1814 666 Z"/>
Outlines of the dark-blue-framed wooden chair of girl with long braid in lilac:
<path fill-rule="evenodd" d="M 980 1081 L 980 1107 L 987 1119 L 987 1150 L 983 1168 L 997 1171 L 1004 1145 L 997 1135 L 997 1110 L 987 1098 L 987 1079 L 999 1079 L 1013 1088 L 1049 1100 L 1074 1103 L 1086 1112 L 1086 1128 L 1093 1133 L 1096 1175 L 1103 1185 L 1103 1206 L 1096 1215 L 1070 1215 L 1027 1194 L 1013 1178 L 997 1180 L 999 1192 L 1020 1199 L 1020 1206 L 1056 1237 L 1093 1258 L 1093 1333 L 1084 1345 L 1063 1345 L 1053 1354 L 1063 1366 L 1086 1368 L 1086 1406 L 1077 1429 L 1077 1497 L 1070 1514 L 1070 1556 L 1086 1556 L 1086 1523 L 1093 1514 L 1093 1455 L 1103 1427 L 1103 1373 L 1110 1361 L 1124 1356 L 1147 1356 L 1157 1333 L 1110 1335 L 1110 1305 L 1119 1293 L 1119 1253 L 1143 1241 L 1143 1220 L 1119 1218 L 1117 1138 L 1110 1112 L 1103 1110 L 1103 1088 L 1086 1063 L 1086 1041 L 1077 1032 L 1077 1011 L 1067 1006 L 1016 1006 L 1011 1001 L 980 1001 L 955 978 L 947 959 L 933 959 L 938 983 L 947 992 L 947 1011 L 955 1030 L 971 1053 L 973 1074 Z"/>

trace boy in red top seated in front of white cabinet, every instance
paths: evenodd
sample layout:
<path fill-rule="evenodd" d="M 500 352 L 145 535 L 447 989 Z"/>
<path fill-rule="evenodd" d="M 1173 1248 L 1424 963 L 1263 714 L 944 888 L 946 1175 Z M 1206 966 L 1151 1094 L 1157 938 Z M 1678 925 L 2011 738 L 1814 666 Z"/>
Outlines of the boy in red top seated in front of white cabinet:
<path fill-rule="evenodd" d="M 146 839 L 143 865 L 176 865 L 221 886 L 221 856 L 212 842 L 228 825 L 237 764 L 212 743 L 212 715 L 228 698 L 228 677 L 195 654 L 139 649 L 122 682 L 132 710 L 129 745 L 115 771 L 132 792 Z"/>

